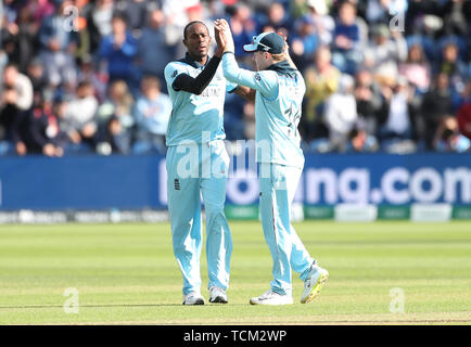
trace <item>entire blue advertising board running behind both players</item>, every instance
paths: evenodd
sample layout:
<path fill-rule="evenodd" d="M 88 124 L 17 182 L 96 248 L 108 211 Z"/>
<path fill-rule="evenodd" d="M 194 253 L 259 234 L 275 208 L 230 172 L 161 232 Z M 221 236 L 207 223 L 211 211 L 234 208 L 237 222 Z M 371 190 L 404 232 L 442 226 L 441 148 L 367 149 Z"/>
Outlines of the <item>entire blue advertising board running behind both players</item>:
<path fill-rule="evenodd" d="M 229 172 L 227 204 L 257 204 L 256 166 L 240 166 Z M 295 200 L 306 206 L 471 205 L 471 154 L 306 155 Z M 165 157 L 2 157 L 0 210 L 22 208 L 165 209 Z"/>

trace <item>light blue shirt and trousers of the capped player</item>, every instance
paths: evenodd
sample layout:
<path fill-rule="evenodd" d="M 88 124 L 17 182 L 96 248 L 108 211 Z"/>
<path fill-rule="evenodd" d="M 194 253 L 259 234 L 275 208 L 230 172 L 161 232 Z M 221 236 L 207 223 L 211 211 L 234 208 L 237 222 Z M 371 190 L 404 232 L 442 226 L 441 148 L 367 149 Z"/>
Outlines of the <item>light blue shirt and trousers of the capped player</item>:
<path fill-rule="evenodd" d="M 273 259 L 271 290 L 292 294 L 292 270 L 304 281 L 314 259 L 290 222 L 291 204 L 304 167 L 297 125 L 306 86 L 288 62 L 266 70 L 241 69 L 232 53 L 222 55 L 225 77 L 256 90 L 255 123 L 259 163 L 259 207 L 265 240 Z"/>

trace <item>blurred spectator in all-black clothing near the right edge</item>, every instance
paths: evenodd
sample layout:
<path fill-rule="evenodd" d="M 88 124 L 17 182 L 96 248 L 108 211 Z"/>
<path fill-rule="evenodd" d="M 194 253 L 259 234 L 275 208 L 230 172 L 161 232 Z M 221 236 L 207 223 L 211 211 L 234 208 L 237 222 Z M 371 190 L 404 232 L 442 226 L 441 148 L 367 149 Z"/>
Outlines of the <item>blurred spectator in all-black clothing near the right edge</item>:
<path fill-rule="evenodd" d="M 429 92 L 423 95 L 421 117 L 424 127 L 424 141 L 428 150 L 433 150 L 433 138 L 443 118 L 453 114 L 451 93 L 446 74 L 438 74 Z"/>

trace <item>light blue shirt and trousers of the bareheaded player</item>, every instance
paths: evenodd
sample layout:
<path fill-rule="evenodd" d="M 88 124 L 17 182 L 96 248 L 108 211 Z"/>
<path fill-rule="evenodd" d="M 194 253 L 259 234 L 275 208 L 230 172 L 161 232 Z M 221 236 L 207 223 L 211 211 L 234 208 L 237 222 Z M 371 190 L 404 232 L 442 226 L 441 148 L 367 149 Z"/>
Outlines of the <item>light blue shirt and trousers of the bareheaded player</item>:
<path fill-rule="evenodd" d="M 219 66 L 200 95 L 174 89 L 180 74 L 196 77 L 204 66 L 186 59 L 165 67 L 174 111 L 166 133 L 167 195 L 174 254 L 183 275 L 183 295 L 201 287 L 201 195 L 206 211 L 208 288 L 229 286 L 232 239 L 224 213 L 229 156 L 224 144 L 224 100 L 237 85 Z M 200 195 L 201 194 L 201 195 Z"/>

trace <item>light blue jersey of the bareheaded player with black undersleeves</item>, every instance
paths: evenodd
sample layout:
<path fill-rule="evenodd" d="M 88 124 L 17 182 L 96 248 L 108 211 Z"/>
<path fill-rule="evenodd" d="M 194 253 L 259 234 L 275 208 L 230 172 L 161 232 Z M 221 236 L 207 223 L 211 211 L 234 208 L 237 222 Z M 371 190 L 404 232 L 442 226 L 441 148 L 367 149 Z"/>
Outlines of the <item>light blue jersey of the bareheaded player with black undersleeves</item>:
<path fill-rule="evenodd" d="M 207 61 L 209 62 L 209 57 Z M 176 91 L 171 87 L 178 75 L 188 74 L 195 78 L 203 69 L 204 66 L 191 60 L 188 54 L 184 59 L 170 62 L 165 66 L 168 95 L 174 106 L 166 133 L 167 146 L 226 138 L 224 130 L 226 91 L 231 92 L 238 86 L 226 80 L 220 65 L 200 95 L 183 90 Z M 202 139 L 203 131 L 211 131 L 211 134 L 208 137 L 205 134 Z"/>

